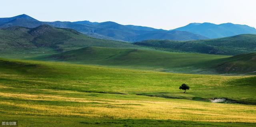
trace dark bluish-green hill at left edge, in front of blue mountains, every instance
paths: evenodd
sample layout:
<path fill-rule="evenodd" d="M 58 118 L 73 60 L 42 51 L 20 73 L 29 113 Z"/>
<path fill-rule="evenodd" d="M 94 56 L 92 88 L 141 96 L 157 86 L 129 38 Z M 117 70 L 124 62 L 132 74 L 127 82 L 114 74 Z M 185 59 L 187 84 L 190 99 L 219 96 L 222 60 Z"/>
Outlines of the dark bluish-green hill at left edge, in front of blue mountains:
<path fill-rule="evenodd" d="M 14 26 L 0 29 L 2 57 L 52 54 L 88 46 L 138 47 L 120 41 L 95 39 L 73 29 L 54 28 L 50 25 L 40 25 L 36 28 Z"/>

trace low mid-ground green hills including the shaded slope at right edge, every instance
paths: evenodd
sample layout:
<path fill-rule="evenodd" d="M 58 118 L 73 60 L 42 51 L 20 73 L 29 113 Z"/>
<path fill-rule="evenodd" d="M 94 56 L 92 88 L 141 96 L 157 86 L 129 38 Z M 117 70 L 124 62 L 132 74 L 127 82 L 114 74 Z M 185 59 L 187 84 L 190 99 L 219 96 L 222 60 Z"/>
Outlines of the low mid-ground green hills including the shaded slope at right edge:
<path fill-rule="evenodd" d="M 141 49 L 85 47 L 34 59 L 178 73 L 253 74 L 256 72 L 256 53 L 230 57 Z"/>

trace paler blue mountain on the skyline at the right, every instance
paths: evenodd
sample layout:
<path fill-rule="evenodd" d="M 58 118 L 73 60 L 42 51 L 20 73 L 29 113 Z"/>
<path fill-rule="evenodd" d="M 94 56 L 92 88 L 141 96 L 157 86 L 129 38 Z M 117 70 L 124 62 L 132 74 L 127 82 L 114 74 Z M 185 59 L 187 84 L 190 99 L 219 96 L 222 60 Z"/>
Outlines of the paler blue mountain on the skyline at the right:
<path fill-rule="evenodd" d="M 174 30 L 189 31 L 208 38 L 229 37 L 240 34 L 256 34 L 256 29 L 254 27 L 233 23 L 222 23 L 219 25 L 213 23 L 190 23 Z"/>

